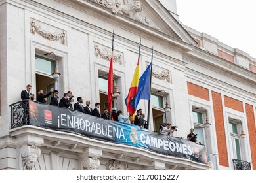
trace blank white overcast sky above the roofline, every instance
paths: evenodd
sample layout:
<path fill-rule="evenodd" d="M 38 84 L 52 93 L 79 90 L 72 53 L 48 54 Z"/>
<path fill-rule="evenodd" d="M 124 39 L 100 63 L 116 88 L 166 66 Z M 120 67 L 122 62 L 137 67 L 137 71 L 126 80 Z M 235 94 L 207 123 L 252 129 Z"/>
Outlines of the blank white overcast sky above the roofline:
<path fill-rule="evenodd" d="M 182 24 L 256 58 L 255 0 L 176 0 Z"/>

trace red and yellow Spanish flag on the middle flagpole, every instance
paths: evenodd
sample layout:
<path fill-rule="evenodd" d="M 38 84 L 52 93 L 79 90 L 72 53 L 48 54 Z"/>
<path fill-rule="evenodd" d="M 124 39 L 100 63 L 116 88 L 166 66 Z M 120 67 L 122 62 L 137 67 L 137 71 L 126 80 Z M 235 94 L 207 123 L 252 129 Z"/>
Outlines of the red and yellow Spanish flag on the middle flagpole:
<path fill-rule="evenodd" d="M 141 45 L 141 39 L 140 39 L 140 45 Z M 133 75 L 133 80 L 131 81 L 131 86 L 129 89 L 129 93 L 125 99 L 125 104 L 127 106 L 127 112 L 129 112 L 130 114 L 130 121 L 131 124 L 133 124 L 134 122 L 134 118 L 135 118 L 135 112 L 136 112 L 136 108 L 133 108 L 133 106 L 130 104 L 131 100 L 133 99 L 133 97 L 136 95 L 136 93 L 138 92 L 138 86 L 139 86 L 139 74 L 140 74 L 140 46 L 139 46 L 139 56 L 138 56 L 138 62 L 137 62 L 137 66 L 135 68 L 135 72 Z"/>

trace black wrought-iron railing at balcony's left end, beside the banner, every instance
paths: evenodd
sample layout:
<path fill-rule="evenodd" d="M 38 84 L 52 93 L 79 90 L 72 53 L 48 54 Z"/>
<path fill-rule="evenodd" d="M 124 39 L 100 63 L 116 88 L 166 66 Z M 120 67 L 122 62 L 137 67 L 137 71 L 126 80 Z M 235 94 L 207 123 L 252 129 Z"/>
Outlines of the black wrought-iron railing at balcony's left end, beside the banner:
<path fill-rule="evenodd" d="M 28 99 L 11 104 L 11 129 L 30 124 Z"/>

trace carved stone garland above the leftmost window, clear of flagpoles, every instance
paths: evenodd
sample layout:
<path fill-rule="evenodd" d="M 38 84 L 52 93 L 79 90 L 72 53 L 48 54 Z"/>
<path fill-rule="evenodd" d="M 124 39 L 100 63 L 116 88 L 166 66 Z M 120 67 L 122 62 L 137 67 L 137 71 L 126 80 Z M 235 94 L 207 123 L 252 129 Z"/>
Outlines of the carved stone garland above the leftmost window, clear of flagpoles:
<path fill-rule="evenodd" d="M 65 44 L 65 33 L 64 31 L 59 32 L 59 33 L 49 33 L 48 31 L 45 31 L 44 29 L 41 28 L 41 25 L 35 24 L 35 21 L 32 20 L 30 22 L 30 33 L 35 34 L 37 33 L 41 37 L 48 39 L 50 41 L 58 41 L 61 40 L 61 44 Z"/>

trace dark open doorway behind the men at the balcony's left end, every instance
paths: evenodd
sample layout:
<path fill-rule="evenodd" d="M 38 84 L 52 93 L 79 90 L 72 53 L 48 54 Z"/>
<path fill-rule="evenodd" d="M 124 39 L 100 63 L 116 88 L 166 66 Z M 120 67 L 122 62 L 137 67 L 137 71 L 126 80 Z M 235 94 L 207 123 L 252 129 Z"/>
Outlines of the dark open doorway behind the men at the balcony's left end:
<path fill-rule="evenodd" d="M 43 90 L 43 93 L 46 94 L 50 91 L 51 88 L 54 88 L 55 80 L 53 78 L 39 75 L 39 74 L 36 74 L 35 78 L 36 78 L 36 91 Z M 46 102 L 47 104 L 50 103 L 50 99 L 52 96 L 53 94 L 48 97 Z"/>

